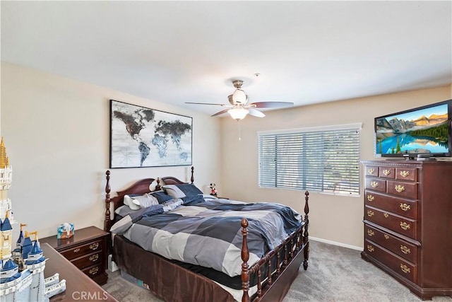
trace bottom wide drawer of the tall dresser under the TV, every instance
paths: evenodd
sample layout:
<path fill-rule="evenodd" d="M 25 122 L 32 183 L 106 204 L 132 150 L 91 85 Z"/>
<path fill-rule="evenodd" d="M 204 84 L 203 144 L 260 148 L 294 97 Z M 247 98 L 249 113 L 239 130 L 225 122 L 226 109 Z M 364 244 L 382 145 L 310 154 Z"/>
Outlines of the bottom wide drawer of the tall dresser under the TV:
<path fill-rule="evenodd" d="M 371 257 L 384 263 L 387 267 L 399 274 L 401 277 L 412 282 L 417 282 L 417 265 L 398 257 L 398 255 L 389 252 L 371 240 L 364 242 L 364 250 Z"/>

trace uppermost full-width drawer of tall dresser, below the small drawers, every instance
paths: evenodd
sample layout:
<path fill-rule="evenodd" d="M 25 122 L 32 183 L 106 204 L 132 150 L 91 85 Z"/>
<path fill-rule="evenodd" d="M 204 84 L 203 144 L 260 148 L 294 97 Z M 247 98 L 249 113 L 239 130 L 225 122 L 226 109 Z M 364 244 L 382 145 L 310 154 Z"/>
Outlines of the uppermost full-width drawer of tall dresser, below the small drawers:
<path fill-rule="evenodd" d="M 417 201 L 391 197 L 385 194 L 365 191 L 364 204 L 386 211 L 407 216 L 412 219 L 417 218 Z"/>

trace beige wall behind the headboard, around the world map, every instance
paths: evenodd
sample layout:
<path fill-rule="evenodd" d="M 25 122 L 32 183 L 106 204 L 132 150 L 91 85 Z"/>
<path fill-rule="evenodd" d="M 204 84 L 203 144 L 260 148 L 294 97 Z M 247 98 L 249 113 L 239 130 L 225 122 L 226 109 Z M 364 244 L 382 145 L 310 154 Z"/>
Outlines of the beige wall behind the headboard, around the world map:
<path fill-rule="evenodd" d="M 13 216 L 37 230 L 56 233 L 59 223 L 103 227 L 105 171 L 109 165 L 109 99 L 193 117 L 196 185 L 220 181 L 220 121 L 191 110 L 109 88 L 1 63 L 1 135 L 13 165 L 8 197 Z M 112 192 L 135 180 L 175 175 L 188 166 L 112 169 Z"/>

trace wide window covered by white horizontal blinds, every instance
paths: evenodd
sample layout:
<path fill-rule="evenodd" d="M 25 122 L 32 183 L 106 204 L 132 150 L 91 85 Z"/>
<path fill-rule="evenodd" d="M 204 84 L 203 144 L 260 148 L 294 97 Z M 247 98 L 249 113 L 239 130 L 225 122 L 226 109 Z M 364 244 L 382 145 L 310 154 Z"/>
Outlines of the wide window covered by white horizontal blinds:
<path fill-rule="evenodd" d="M 259 187 L 359 195 L 361 124 L 258 132 Z"/>

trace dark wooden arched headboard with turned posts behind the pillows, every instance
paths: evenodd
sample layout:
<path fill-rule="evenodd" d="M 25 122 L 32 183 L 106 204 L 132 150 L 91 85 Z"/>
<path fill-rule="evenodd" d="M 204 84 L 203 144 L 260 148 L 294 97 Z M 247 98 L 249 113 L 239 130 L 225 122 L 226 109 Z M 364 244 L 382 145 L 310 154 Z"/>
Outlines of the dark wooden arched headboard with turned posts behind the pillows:
<path fill-rule="evenodd" d="M 124 204 L 124 195 L 128 194 L 145 194 L 148 192 L 152 192 L 150 190 L 150 185 L 154 182 L 155 178 L 144 178 L 142 180 L 138 180 L 137 182 L 133 183 L 133 185 L 127 187 L 126 189 L 122 191 L 117 191 L 117 196 L 110 198 L 110 171 L 107 170 L 105 173 L 107 176 L 107 183 L 105 185 L 105 219 L 104 219 L 104 231 L 109 231 L 110 227 L 112 226 L 112 219 L 111 219 L 111 213 L 110 213 L 110 204 L 113 204 L 113 209 L 117 209 L 118 207 L 121 207 L 121 205 Z M 163 182 L 164 185 L 177 185 L 177 184 L 184 184 L 188 182 L 183 182 L 177 178 L 174 178 L 173 176 L 165 176 L 163 178 L 157 178 L 157 185 L 155 186 L 154 191 L 162 190 L 162 185 L 160 182 Z M 194 183 L 194 167 L 191 167 L 191 177 L 190 182 Z M 114 216 L 114 212 L 113 212 Z"/>

